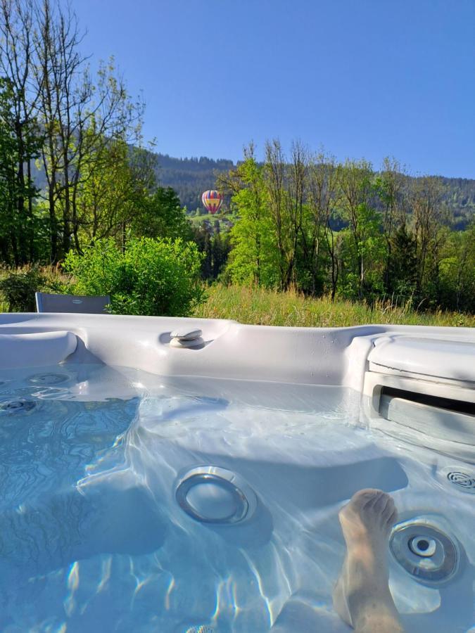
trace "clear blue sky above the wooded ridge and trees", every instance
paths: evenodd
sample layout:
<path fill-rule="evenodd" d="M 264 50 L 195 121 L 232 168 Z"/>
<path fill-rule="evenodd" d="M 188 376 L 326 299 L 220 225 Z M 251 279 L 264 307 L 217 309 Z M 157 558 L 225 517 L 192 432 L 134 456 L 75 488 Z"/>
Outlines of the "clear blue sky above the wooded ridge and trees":
<path fill-rule="evenodd" d="M 72 0 L 172 156 L 278 136 L 475 177 L 475 0 Z"/>

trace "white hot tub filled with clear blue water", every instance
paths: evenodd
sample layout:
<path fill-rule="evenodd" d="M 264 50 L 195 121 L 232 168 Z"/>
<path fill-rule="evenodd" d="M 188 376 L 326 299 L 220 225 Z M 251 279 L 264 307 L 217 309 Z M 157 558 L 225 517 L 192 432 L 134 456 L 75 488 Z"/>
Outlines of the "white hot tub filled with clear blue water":
<path fill-rule="evenodd" d="M 475 333 L 0 316 L 2 631 L 346 631 L 338 510 L 407 631 L 474 622 Z"/>

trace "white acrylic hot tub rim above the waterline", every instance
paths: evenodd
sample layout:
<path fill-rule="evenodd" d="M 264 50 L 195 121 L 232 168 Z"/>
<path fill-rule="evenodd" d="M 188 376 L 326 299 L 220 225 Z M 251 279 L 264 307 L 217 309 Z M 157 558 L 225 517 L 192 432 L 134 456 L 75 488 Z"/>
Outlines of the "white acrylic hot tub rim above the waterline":
<path fill-rule="evenodd" d="M 200 329 L 204 343 L 173 347 L 170 334 L 177 329 Z M 284 328 L 220 319 L 0 314 L 0 370 L 65 360 L 102 362 L 152 376 L 342 386 L 362 394 L 362 422 L 384 430 L 391 427 L 379 412 L 384 386 L 475 402 L 474 350 L 471 328 Z M 124 397 L 122 389 L 117 385 L 118 397 Z M 82 398 L 92 397 L 89 385 L 80 385 L 80 390 Z M 98 394 L 94 397 L 100 399 Z M 433 447 L 440 449 L 442 442 L 443 449 L 447 441 L 433 426 L 437 444 Z M 475 461 L 475 442 L 452 445 L 452 454 Z"/>

